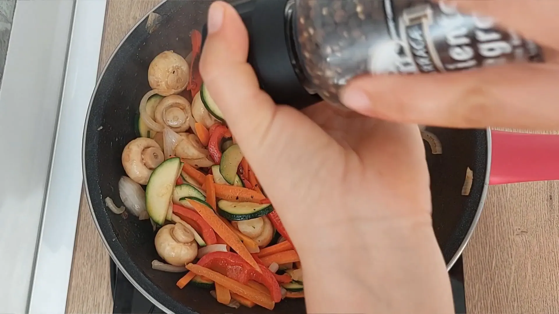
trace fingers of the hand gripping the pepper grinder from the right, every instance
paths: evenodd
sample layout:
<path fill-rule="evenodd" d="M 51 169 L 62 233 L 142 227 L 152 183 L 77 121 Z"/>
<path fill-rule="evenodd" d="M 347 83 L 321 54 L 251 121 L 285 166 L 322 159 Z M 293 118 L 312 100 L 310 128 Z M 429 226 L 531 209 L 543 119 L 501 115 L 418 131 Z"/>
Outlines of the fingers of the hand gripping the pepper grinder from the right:
<path fill-rule="evenodd" d="M 347 106 L 384 120 L 444 127 L 557 129 L 558 1 L 454 1 L 494 17 L 544 48 L 546 64 L 511 64 L 429 75 L 365 75 L 341 94 Z M 359 100 L 361 99 L 361 100 Z"/>

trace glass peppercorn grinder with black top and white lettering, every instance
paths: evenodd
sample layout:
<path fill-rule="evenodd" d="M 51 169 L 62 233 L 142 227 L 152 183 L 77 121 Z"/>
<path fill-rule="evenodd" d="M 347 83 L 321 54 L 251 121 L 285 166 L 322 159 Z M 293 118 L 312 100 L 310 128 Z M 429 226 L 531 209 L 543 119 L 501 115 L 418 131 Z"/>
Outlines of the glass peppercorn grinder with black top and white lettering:
<path fill-rule="evenodd" d="M 244 0 L 248 62 L 276 103 L 302 109 L 361 74 L 452 72 L 543 61 L 541 49 L 489 17 L 445 1 Z M 206 27 L 202 36 L 205 39 Z"/>

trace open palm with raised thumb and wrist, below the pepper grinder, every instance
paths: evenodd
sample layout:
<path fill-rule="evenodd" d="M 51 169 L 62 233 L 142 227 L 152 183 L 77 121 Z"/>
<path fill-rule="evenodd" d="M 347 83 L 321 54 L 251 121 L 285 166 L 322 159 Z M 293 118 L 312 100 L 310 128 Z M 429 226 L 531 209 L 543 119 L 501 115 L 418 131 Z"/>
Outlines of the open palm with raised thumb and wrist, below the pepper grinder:
<path fill-rule="evenodd" d="M 418 127 L 277 106 L 235 10 L 213 3 L 208 29 L 202 78 L 297 248 L 307 311 L 452 312 Z"/>

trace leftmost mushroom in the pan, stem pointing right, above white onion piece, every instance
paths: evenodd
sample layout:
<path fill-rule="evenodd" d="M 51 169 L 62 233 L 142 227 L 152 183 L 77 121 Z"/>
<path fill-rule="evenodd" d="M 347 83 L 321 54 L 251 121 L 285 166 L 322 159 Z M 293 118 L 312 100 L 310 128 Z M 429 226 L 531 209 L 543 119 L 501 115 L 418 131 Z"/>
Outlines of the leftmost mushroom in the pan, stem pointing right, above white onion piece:
<path fill-rule="evenodd" d="M 157 142 L 146 137 L 131 140 L 122 151 L 122 166 L 130 179 L 148 184 L 153 169 L 164 160 Z"/>

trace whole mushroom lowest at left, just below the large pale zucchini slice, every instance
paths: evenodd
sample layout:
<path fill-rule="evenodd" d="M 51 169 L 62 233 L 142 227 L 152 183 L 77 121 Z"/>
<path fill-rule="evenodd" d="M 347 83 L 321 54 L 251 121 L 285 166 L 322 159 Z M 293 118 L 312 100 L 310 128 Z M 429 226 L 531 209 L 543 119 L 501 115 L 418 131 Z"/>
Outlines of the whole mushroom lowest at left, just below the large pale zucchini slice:
<path fill-rule="evenodd" d="M 180 223 L 159 229 L 155 235 L 155 250 L 162 259 L 175 266 L 184 266 L 198 255 L 194 235 Z"/>

